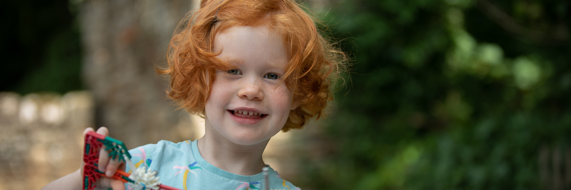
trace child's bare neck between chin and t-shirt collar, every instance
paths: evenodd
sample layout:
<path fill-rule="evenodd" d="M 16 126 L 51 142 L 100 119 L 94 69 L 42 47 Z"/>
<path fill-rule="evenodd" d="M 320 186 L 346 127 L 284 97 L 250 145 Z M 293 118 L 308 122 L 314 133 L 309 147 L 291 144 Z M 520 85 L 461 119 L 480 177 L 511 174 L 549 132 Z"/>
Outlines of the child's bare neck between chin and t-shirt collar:
<path fill-rule="evenodd" d="M 262 153 L 269 141 L 253 145 L 232 143 L 207 124 L 204 136 L 197 144 L 200 155 L 208 163 L 230 173 L 252 176 L 266 167 Z"/>

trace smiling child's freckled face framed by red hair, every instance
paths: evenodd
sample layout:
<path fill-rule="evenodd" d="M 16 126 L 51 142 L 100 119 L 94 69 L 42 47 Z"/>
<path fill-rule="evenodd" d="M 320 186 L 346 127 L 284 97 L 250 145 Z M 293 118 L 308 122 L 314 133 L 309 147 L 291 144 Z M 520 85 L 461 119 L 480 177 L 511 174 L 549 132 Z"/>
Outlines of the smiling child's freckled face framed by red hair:
<path fill-rule="evenodd" d="M 205 107 L 207 131 L 240 145 L 270 139 L 297 107 L 280 80 L 288 62 L 282 38 L 266 25 L 233 26 L 216 36 L 214 47 L 236 68 L 216 71 Z"/>

